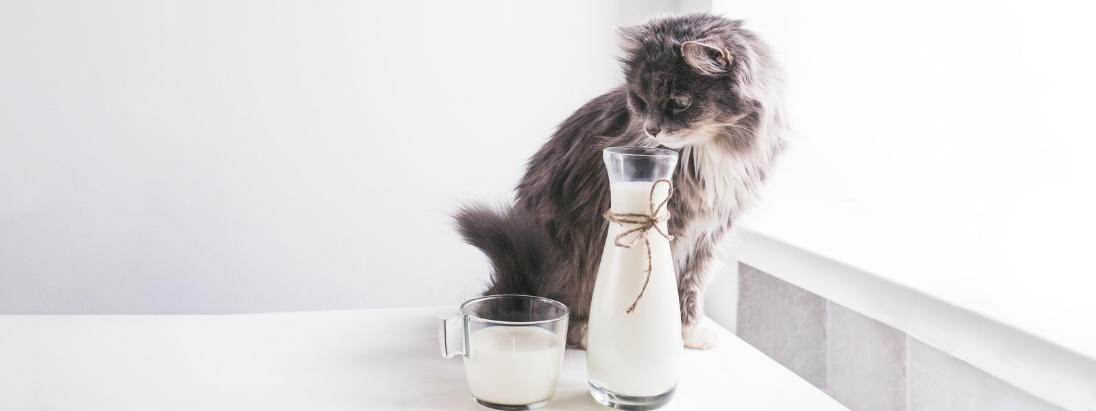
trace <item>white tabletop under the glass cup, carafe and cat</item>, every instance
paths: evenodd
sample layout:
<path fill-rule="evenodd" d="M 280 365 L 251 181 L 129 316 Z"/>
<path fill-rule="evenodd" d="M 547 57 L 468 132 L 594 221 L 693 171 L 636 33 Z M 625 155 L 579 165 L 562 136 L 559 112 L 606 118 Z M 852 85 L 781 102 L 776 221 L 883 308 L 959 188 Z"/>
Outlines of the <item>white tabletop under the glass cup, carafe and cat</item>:
<path fill-rule="evenodd" d="M 0 316 L 0 410 L 486 410 L 437 347 L 455 307 Z M 686 350 L 666 410 L 845 410 L 729 332 Z M 568 350 L 545 410 L 608 410 Z"/>

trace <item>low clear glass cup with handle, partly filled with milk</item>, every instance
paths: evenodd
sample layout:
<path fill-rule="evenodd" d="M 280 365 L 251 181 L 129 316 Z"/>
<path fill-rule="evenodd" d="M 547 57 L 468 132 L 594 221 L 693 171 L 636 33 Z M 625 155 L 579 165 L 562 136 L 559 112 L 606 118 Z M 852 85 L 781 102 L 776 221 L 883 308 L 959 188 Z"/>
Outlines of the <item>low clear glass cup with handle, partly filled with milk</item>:
<path fill-rule="evenodd" d="M 460 305 L 460 313 L 437 317 L 442 356 L 464 356 L 468 391 L 483 407 L 544 407 L 556 392 L 569 313 L 567 306 L 544 297 L 470 299 Z M 450 333 L 458 324 L 460 331 Z"/>

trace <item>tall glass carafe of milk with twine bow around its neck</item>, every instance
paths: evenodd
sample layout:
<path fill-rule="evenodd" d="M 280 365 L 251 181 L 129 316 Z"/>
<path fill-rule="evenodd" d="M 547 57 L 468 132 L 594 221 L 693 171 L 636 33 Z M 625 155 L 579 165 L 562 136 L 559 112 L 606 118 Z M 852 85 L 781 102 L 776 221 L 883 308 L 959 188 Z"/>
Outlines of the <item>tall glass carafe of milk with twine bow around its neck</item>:
<path fill-rule="evenodd" d="M 665 406 L 682 353 L 677 278 L 666 229 L 677 152 L 610 147 L 603 159 L 612 205 L 586 331 L 586 377 L 612 408 Z"/>

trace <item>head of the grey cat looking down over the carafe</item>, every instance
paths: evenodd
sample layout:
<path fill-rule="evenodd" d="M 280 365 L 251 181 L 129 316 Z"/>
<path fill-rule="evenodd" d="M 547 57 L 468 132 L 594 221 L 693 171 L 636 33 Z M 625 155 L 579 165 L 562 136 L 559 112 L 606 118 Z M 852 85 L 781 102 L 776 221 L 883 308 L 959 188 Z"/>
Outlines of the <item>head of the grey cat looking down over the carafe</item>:
<path fill-rule="evenodd" d="M 766 73 L 752 71 L 765 69 L 756 64 L 764 45 L 739 22 L 701 13 L 618 30 L 628 107 L 648 137 L 669 148 L 754 142 L 764 102 L 751 91 Z"/>

